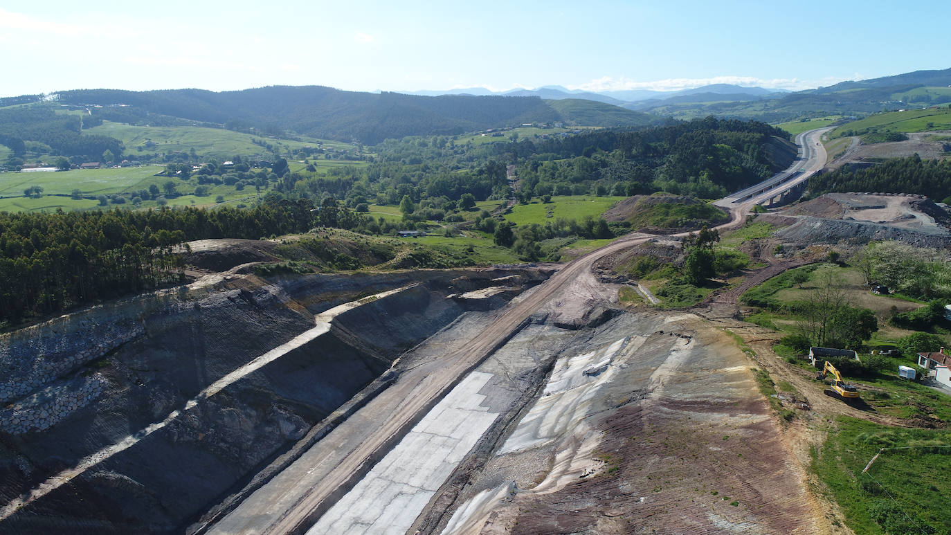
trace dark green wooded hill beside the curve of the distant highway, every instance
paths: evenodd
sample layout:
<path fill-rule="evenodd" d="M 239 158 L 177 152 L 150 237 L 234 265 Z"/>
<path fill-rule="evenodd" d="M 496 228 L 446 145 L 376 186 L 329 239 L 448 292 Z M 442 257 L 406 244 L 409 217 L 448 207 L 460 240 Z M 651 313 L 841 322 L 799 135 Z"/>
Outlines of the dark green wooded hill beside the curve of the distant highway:
<path fill-rule="evenodd" d="M 592 181 L 614 195 L 666 191 L 723 197 L 785 169 L 796 157 L 788 134 L 769 124 L 708 117 L 634 131 L 595 130 L 567 138 L 525 140 L 496 150 L 522 162 L 523 194 Z"/>

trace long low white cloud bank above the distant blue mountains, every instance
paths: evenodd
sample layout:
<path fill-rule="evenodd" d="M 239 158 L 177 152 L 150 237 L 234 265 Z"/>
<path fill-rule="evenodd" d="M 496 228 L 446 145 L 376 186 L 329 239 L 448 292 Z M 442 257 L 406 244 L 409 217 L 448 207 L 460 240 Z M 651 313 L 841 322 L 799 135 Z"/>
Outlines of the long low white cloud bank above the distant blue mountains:
<path fill-rule="evenodd" d="M 831 86 L 848 78 L 826 77 L 819 80 L 803 80 L 800 78 L 757 78 L 755 76 L 714 76 L 711 78 L 668 78 L 651 82 L 638 82 L 630 78 L 612 78 L 605 76 L 585 84 L 568 86 L 569 89 L 583 89 L 585 91 L 626 91 L 631 89 L 651 89 L 654 91 L 676 91 L 678 89 L 692 89 L 694 87 L 709 86 L 711 84 L 731 84 L 734 86 L 759 86 L 772 89 L 789 89 L 799 91 L 818 86 Z"/>

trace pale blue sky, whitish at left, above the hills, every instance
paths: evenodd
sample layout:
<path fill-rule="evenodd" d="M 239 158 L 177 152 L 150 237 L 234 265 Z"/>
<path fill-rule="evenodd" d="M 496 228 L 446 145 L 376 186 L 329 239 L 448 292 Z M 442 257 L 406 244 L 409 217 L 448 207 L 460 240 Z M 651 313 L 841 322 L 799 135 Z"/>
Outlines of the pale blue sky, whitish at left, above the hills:
<path fill-rule="evenodd" d="M 951 3 L 0 2 L 0 96 L 80 88 L 791 90 L 951 67 Z"/>

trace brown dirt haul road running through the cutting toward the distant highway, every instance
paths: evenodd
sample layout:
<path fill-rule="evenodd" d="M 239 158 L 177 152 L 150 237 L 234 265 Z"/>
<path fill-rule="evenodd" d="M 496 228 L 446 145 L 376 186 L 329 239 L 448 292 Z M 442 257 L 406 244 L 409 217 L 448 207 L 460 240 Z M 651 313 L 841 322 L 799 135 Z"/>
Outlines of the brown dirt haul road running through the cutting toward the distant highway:
<path fill-rule="evenodd" d="M 817 135 L 818 131 L 808 132 L 801 139 L 805 143 L 816 143 Z M 818 150 L 809 152 L 809 161 L 803 166 L 808 169 L 808 174 L 822 168 L 825 162 L 822 145 L 813 147 Z M 778 195 L 783 187 L 791 185 L 792 182 L 734 204 L 730 209 L 731 220 L 717 228 L 727 230 L 742 225 L 754 204 L 764 197 Z M 393 386 L 380 392 L 301 457 L 298 463 L 314 462 L 306 471 L 285 470 L 249 496 L 235 511 L 212 525 L 208 532 L 298 533 L 306 530 L 354 487 L 467 373 L 504 345 L 532 315 L 546 308 L 551 310 L 552 306 L 556 309 L 561 303 L 571 306 L 597 299 L 598 284 L 592 274 L 593 264 L 650 238 L 650 235 L 634 233 L 574 259 L 546 282 L 515 299 L 463 347 L 402 373 Z"/>

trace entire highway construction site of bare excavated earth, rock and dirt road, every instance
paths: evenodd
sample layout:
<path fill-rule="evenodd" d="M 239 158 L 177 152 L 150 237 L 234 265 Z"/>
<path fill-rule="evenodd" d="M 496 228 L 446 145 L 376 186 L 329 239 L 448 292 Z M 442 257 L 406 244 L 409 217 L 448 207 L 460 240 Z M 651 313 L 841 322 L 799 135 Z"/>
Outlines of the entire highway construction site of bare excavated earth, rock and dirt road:
<path fill-rule="evenodd" d="M 775 190 L 757 195 L 725 237 Z M 354 276 L 258 277 L 204 243 L 218 263 L 188 286 L 0 338 L 10 384 L 49 385 L 5 398 L 0 532 L 852 533 L 816 471 L 837 419 L 915 425 L 781 357 L 738 297 L 833 245 L 944 246 L 946 217 L 864 194 L 773 211 L 740 245 L 760 263 L 679 310 L 619 299 L 646 234 Z"/>

